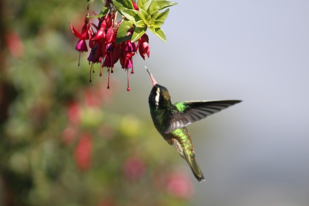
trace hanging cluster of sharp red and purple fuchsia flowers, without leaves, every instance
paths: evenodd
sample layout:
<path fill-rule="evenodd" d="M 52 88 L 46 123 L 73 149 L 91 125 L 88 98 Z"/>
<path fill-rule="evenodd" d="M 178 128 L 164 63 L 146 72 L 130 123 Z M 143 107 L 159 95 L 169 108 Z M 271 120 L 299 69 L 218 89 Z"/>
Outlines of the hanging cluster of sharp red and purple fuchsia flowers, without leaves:
<path fill-rule="evenodd" d="M 109 2 L 109 3 L 108 3 Z M 133 6 L 136 10 L 138 9 L 137 4 L 133 2 Z M 116 62 L 119 60 L 121 68 L 127 70 L 127 90 L 129 91 L 129 69 L 131 68 L 131 74 L 134 74 L 133 70 L 133 59 L 132 57 L 139 51 L 142 58 L 145 60 L 145 56 L 149 57 L 149 39 L 144 34 L 138 40 L 137 45 L 131 40 L 123 41 L 116 44 L 116 35 L 118 27 L 121 21 L 116 22 L 117 11 L 112 5 L 112 1 L 107 1 L 106 7 L 110 7 L 110 10 L 106 15 L 98 18 L 98 25 L 90 23 L 89 14 L 86 15 L 84 25 L 81 29 L 81 33 L 78 33 L 76 29 L 71 25 L 70 27 L 73 34 L 79 39 L 76 45 L 77 51 L 80 53 L 88 51 L 86 40 L 89 40 L 89 48 L 91 48 L 90 54 L 87 60 L 90 63 L 89 81 L 91 82 L 91 73 L 94 73 L 94 63 L 100 63 L 100 76 L 102 76 L 102 67 L 108 68 L 108 85 L 110 88 L 110 73 L 113 73 L 113 68 Z M 91 28 L 95 28 L 96 32 Z M 128 29 L 127 36 L 133 33 L 133 25 Z M 78 58 L 78 65 L 79 65 Z"/>

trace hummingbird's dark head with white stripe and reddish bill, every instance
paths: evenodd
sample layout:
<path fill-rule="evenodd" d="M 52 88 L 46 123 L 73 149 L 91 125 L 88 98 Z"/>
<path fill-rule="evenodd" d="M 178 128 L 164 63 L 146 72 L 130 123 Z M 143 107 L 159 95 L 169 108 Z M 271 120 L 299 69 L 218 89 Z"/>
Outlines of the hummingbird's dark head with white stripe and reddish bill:
<path fill-rule="evenodd" d="M 157 109 L 164 109 L 167 106 L 170 106 L 171 97 L 169 95 L 167 88 L 158 84 L 155 81 L 154 76 L 150 73 L 149 69 L 147 67 L 145 68 L 153 82 L 153 88 L 150 92 L 149 99 L 148 99 L 149 106 L 155 107 Z"/>

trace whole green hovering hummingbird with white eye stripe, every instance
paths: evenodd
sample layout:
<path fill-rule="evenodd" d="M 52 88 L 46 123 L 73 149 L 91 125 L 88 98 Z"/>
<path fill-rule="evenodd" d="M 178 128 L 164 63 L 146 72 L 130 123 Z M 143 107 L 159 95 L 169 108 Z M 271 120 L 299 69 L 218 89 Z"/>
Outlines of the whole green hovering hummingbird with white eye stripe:
<path fill-rule="evenodd" d="M 175 146 L 180 156 L 187 161 L 195 178 L 199 182 L 205 181 L 196 162 L 191 136 L 186 126 L 241 100 L 184 101 L 172 104 L 167 88 L 158 84 L 149 69 L 145 68 L 153 82 L 148 102 L 155 128 L 168 144 Z"/>

